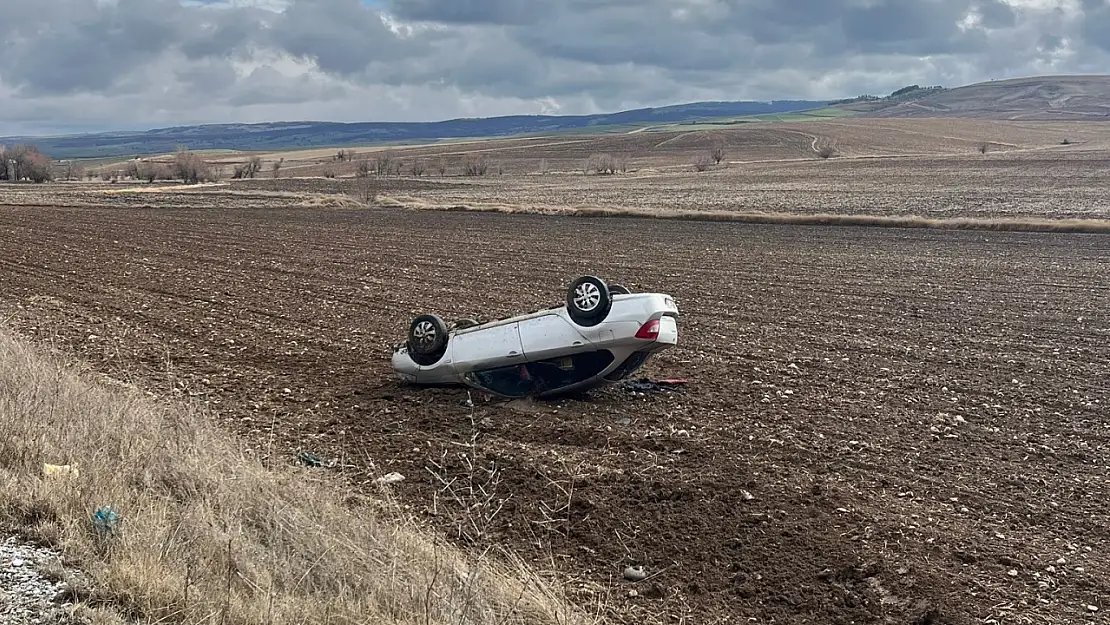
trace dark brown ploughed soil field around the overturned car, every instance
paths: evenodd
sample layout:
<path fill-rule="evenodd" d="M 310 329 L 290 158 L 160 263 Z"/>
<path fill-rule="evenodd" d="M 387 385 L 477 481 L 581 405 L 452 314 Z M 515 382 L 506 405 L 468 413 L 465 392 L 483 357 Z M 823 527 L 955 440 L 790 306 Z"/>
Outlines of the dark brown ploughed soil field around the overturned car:
<path fill-rule="evenodd" d="M 3 209 L 0 314 L 260 453 L 398 471 L 428 522 L 620 622 L 1073 624 L 1110 611 L 1108 259 L 1104 235 Z M 586 272 L 676 296 L 645 373 L 685 392 L 470 409 L 391 379 L 413 314 L 532 310 Z"/>

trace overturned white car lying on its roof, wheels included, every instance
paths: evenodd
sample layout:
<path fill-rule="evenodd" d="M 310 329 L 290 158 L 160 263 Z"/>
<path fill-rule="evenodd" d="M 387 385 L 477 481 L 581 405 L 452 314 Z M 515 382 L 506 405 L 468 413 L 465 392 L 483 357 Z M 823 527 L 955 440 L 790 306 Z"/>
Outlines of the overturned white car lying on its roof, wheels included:
<path fill-rule="evenodd" d="M 628 377 L 678 342 L 678 308 L 665 293 L 630 293 L 592 275 L 566 304 L 452 327 L 434 314 L 412 321 L 393 370 L 415 384 L 465 384 L 504 397 L 585 391 Z"/>

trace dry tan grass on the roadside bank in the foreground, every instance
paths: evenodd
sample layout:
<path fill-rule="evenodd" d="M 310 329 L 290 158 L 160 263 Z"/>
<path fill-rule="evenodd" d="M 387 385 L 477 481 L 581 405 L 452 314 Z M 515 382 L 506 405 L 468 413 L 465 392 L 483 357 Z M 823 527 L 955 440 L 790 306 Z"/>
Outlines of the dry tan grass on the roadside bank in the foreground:
<path fill-rule="evenodd" d="M 266 468 L 203 413 L 94 384 L 0 332 L 0 524 L 61 548 L 124 619 L 584 621 L 518 562 L 467 557 L 321 471 Z M 120 513 L 118 535 L 93 531 L 100 506 Z"/>

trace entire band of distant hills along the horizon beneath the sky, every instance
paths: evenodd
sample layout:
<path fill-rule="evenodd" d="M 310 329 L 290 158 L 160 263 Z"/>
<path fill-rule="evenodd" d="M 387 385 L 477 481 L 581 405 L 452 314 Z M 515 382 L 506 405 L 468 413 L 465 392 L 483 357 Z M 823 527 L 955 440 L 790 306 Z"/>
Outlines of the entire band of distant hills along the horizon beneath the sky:
<path fill-rule="evenodd" d="M 955 89 L 910 85 L 881 98 L 862 95 L 837 102 L 695 102 L 594 115 L 509 115 L 435 122 L 205 124 L 65 137 L 9 137 L 0 138 L 0 144 L 34 143 L 54 159 L 118 158 L 167 153 L 179 145 L 193 150 L 273 152 L 568 132 L 712 130 L 838 117 L 1110 121 L 1110 75 L 1033 77 Z"/>

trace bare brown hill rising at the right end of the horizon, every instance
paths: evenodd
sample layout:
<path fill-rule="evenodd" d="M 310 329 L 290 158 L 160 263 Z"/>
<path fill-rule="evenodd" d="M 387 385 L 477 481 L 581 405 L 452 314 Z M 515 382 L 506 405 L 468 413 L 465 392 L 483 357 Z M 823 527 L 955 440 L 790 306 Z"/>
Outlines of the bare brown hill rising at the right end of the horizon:
<path fill-rule="evenodd" d="M 924 91 L 924 90 L 921 90 Z M 1051 75 L 993 80 L 906 98 L 838 103 L 867 118 L 982 118 L 1110 121 L 1110 75 Z"/>

